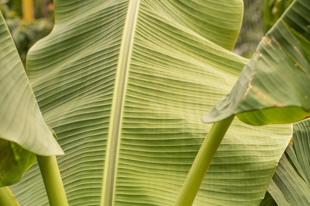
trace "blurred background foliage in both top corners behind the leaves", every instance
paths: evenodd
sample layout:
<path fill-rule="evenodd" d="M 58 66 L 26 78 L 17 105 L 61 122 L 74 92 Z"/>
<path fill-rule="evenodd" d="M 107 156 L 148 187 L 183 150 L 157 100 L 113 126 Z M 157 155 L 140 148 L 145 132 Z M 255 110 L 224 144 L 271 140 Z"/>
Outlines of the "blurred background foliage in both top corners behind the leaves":
<path fill-rule="evenodd" d="M 23 18 L 23 0 L 0 0 L 0 9 L 12 34 L 21 60 L 25 65 L 28 49 L 47 36 L 53 27 L 52 0 L 31 0 L 34 20 Z M 234 52 L 250 58 L 261 37 L 282 15 L 292 0 L 244 0 L 245 13 L 239 39 Z"/>

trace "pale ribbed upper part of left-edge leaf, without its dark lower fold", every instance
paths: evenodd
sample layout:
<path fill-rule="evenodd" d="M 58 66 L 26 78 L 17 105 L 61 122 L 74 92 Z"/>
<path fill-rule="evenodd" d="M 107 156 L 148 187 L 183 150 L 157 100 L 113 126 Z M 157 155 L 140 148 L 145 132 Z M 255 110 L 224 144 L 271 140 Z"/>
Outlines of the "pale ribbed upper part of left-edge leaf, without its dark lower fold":
<path fill-rule="evenodd" d="M 44 122 L 2 14 L 0 44 L 0 138 L 35 154 L 63 154 Z"/>

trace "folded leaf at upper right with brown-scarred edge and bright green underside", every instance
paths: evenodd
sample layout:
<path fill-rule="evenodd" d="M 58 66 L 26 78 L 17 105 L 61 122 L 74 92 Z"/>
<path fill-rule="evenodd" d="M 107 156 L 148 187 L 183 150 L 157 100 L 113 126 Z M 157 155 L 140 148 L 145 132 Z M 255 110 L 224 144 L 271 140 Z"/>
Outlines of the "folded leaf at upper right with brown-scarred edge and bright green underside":
<path fill-rule="evenodd" d="M 296 0 L 258 45 L 230 94 L 206 123 L 237 115 L 248 124 L 292 123 L 310 116 L 310 1 Z"/>

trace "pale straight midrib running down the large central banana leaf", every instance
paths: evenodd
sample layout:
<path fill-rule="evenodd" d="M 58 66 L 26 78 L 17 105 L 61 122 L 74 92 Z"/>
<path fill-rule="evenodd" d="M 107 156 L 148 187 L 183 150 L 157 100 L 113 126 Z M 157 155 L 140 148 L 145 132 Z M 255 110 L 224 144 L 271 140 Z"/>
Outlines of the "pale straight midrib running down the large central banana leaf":
<path fill-rule="evenodd" d="M 121 129 L 120 125 L 139 2 L 140 0 L 131 0 L 129 2 L 128 13 L 124 25 L 124 33 L 120 47 L 120 55 L 115 78 L 115 89 L 111 108 L 111 119 L 103 174 L 101 206 L 113 205 L 114 183 L 117 164 L 116 162 L 118 157 L 118 144 Z"/>

